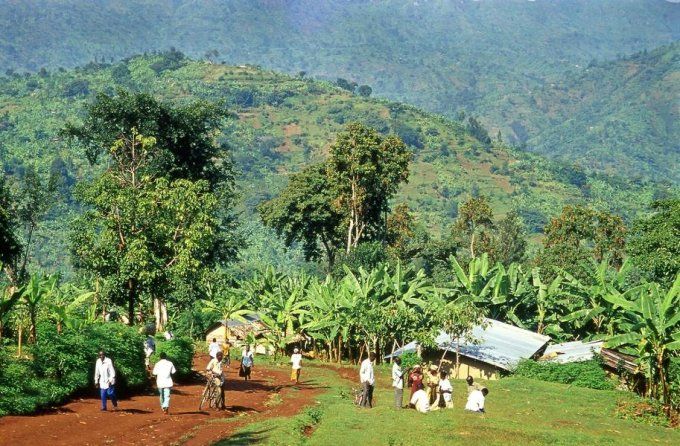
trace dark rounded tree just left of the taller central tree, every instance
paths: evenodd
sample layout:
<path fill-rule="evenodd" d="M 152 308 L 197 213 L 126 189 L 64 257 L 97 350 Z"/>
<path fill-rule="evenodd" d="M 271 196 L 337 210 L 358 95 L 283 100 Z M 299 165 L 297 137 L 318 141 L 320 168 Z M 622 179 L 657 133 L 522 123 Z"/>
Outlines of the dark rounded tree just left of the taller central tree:
<path fill-rule="evenodd" d="M 323 252 L 332 268 L 343 245 L 342 216 L 333 206 L 335 198 L 325 164 L 316 164 L 292 175 L 283 192 L 258 210 L 264 224 L 282 235 L 287 246 L 301 243 L 307 260 L 318 259 Z"/>

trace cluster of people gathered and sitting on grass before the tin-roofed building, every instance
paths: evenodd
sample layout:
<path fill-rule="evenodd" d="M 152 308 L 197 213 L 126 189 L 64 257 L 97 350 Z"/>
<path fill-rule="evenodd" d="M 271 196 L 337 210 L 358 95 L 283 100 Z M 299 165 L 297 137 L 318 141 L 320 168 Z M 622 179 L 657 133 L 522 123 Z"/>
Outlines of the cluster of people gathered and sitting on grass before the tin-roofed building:
<path fill-rule="evenodd" d="M 421 413 L 453 408 L 453 386 L 448 376 L 447 371 L 439 370 L 434 364 L 426 373 L 423 373 L 420 365 L 414 366 L 408 375 L 408 385 L 411 389 L 409 407 Z M 468 376 L 466 381 L 468 391 L 465 410 L 484 413 L 484 399 L 489 390 L 475 383 L 471 376 Z"/>

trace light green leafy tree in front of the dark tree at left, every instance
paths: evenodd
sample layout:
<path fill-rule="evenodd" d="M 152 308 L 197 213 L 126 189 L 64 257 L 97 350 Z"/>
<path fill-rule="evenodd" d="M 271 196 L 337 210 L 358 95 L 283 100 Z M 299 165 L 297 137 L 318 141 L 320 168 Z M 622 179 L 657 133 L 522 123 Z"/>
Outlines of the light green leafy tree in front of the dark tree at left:
<path fill-rule="evenodd" d="M 208 182 L 155 177 L 148 160 L 156 151 L 154 138 L 133 129 L 113 144 L 109 169 L 77 190 L 88 210 L 72 225 L 75 264 L 106 279 L 111 300 L 127 304 L 130 324 L 141 297 L 162 308 L 198 281 L 219 229 Z M 156 320 L 157 328 L 165 322 Z"/>

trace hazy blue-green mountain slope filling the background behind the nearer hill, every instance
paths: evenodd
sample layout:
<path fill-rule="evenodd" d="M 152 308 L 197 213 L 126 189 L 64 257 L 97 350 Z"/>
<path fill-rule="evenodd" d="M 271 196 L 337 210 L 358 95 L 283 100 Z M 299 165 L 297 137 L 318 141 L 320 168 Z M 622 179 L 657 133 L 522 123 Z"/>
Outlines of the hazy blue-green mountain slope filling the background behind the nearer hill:
<path fill-rule="evenodd" d="M 174 46 L 194 57 L 368 84 L 375 94 L 456 116 L 478 114 L 512 142 L 584 168 L 671 179 L 670 116 L 640 101 L 673 91 L 594 59 L 680 38 L 666 0 L 0 0 L 0 68 L 38 71 Z M 213 50 L 217 50 L 216 52 Z M 620 63 L 616 62 L 616 63 Z M 639 70 L 649 73 L 639 61 Z M 621 64 L 622 66 L 625 63 Z M 602 67 L 605 88 L 588 79 Z M 671 67 L 672 68 L 672 67 Z M 677 70 L 676 70 L 677 71 Z M 598 78 L 593 78 L 598 79 Z M 671 79 L 672 81 L 672 79 Z M 553 85 L 560 91 L 552 91 Z M 612 91 L 623 91 L 618 94 Z M 639 94 L 638 94 L 639 90 Z M 677 89 L 675 90 L 677 91 Z M 586 96 L 564 107 L 560 101 Z M 668 96 L 667 96 L 668 97 Z M 672 95 L 670 96 L 672 98 Z M 672 101 L 672 100 L 671 100 Z M 609 102 L 609 105 L 606 103 Z M 662 100 L 672 105 L 669 100 Z M 574 116 L 577 114 L 577 116 Z M 583 126 L 593 127 L 587 132 Z M 578 135 L 575 135 L 578 132 Z M 676 139 L 677 141 L 677 139 Z M 648 163 L 652 163 L 648 165 Z"/>

